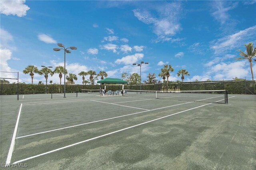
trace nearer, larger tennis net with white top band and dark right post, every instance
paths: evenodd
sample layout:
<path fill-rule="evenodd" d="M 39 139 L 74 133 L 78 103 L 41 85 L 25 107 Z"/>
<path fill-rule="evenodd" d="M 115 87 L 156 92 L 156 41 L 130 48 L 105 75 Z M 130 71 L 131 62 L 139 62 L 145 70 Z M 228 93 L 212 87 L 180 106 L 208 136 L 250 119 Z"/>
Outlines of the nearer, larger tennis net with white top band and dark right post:
<path fill-rule="evenodd" d="M 201 90 L 201 91 L 147 91 L 124 89 L 128 97 L 155 98 L 178 101 L 195 101 L 206 103 L 228 104 L 227 90 Z"/>

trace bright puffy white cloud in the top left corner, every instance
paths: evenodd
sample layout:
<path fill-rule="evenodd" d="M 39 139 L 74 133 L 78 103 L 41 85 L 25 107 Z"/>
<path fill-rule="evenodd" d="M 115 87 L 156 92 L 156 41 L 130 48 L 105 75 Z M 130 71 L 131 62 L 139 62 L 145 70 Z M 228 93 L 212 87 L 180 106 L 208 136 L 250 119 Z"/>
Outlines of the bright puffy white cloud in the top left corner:
<path fill-rule="evenodd" d="M 25 16 L 30 8 L 25 5 L 26 0 L 1 0 L 0 13 L 5 15 Z"/>

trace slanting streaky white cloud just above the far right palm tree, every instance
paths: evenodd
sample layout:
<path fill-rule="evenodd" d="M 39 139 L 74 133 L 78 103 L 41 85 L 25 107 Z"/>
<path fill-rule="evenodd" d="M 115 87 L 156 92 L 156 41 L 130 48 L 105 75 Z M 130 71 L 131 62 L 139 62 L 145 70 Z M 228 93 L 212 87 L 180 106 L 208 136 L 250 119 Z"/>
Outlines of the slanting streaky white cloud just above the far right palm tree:
<path fill-rule="evenodd" d="M 214 54 L 222 54 L 244 47 L 244 44 L 256 42 L 256 26 L 249 27 L 230 36 L 225 36 L 211 42 Z M 245 47 L 244 47 L 245 48 Z"/>

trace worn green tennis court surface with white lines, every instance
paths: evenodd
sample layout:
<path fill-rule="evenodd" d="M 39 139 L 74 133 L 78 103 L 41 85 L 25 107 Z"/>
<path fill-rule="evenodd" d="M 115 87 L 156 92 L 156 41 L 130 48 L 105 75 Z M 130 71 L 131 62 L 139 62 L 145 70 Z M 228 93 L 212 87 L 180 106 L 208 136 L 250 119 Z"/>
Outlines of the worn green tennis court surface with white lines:
<path fill-rule="evenodd" d="M 255 169 L 255 95 L 229 95 L 228 104 L 61 95 L 1 96 L 1 165 Z"/>

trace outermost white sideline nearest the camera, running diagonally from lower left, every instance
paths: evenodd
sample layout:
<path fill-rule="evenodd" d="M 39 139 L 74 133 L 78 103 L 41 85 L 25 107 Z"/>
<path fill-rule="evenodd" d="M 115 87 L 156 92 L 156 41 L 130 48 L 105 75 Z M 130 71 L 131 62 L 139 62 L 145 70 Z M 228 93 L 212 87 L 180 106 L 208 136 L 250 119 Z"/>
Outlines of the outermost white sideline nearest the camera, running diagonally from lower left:
<path fill-rule="evenodd" d="M 212 103 L 208 103 L 208 104 L 206 104 L 206 105 L 210 105 L 210 104 L 212 104 Z M 49 151 L 49 152 L 44 152 L 44 153 L 42 153 L 42 154 L 38 154 L 38 155 L 35 155 L 35 156 L 31 156 L 31 157 L 26 158 L 26 159 L 18 160 L 18 161 L 16 161 L 16 162 L 14 162 L 13 164 L 17 164 L 17 163 L 20 163 L 20 162 L 24 162 L 24 161 L 26 161 L 26 160 L 30 160 L 30 159 L 36 158 L 36 157 L 38 157 L 38 156 L 43 156 L 43 155 L 46 155 L 46 154 L 50 154 L 50 153 L 56 152 L 56 151 L 58 151 L 58 150 L 62 150 L 62 149 L 65 149 L 65 148 L 69 148 L 69 147 L 71 147 L 71 146 L 75 146 L 75 145 L 78 145 L 78 144 L 81 144 L 81 143 L 84 143 L 84 142 L 88 142 L 88 141 L 90 141 L 90 140 L 94 140 L 94 139 L 97 139 L 97 138 L 101 138 L 101 137 L 103 137 L 103 136 L 108 136 L 108 135 L 110 135 L 110 134 L 114 134 L 114 133 L 117 133 L 117 132 L 121 132 L 121 131 L 127 130 L 127 129 L 129 129 L 129 128 L 138 127 L 138 126 L 144 125 L 144 124 L 146 124 L 146 123 L 150 123 L 150 122 L 153 122 L 153 121 L 157 121 L 157 120 L 160 120 L 160 119 L 164 119 L 164 118 L 166 118 L 166 117 L 170 117 L 170 116 L 172 116 L 172 115 L 176 115 L 176 114 L 179 114 L 179 113 L 183 113 L 183 112 L 186 112 L 186 111 L 190 111 L 190 110 L 192 110 L 192 109 L 196 109 L 196 108 L 203 107 L 203 106 L 206 106 L 206 105 L 194 107 L 194 108 L 191 108 L 191 109 L 187 109 L 187 110 L 185 110 L 185 111 L 181 111 L 181 112 L 177 112 L 177 113 L 174 113 L 174 114 L 171 114 L 171 115 L 167 115 L 167 116 L 164 116 L 164 117 L 160 117 L 160 118 L 158 118 L 158 119 L 154 119 L 154 120 L 151 120 L 151 121 L 147 121 L 147 122 L 144 122 L 144 123 L 140 123 L 140 124 L 138 124 L 138 125 L 134 125 L 134 126 L 131 126 L 131 127 L 127 127 L 127 128 L 123 128 L 123 129 L 120 129 L 120 130 L 116 130 L 116 131 L 114 131 L 114 132 L 110 132 L 110 133 L 107 133 L 107 134 L 103 134 L 103 135 L 101 135 L 101 136 L 97 136 L 97 137 L 94 137 L 94 138 L 90 138 L 90 139 L 87 139 L 87 140 L 83 140 L 83 141 L 81 141 L 81 142 L 77 142 L 77 143 L 74 143 L 74 144 L 70 144 L 70 145 L 64 146 L 64 147 L 62 147 L 62 148 L 58 148 L 58 149 L 55 149 L 55 150 L 51 150 L 51 151 Z"/>

